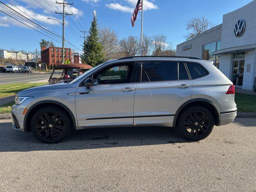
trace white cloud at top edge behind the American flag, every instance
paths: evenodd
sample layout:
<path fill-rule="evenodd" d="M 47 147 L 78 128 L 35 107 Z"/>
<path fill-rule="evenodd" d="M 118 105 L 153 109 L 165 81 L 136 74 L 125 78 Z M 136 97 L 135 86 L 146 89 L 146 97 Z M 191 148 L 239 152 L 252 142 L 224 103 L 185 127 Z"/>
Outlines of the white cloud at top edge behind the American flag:
<path fill-rule="evenodd" d="M 119 3 L 110 3 L 106 4 L 106 7 L 112 9 L 112 10 L 118 10 L 121 12 L 133 12 L 134 8 L 136 6 L 137 1 L 136 0 L 124 0 L 124 2 L 128 3 L 129 5 L 121 5 Z M 148 0 L 143 1 L 143 10 L 152 10 L 152 9 L 158 9 L 158 6 Z"/>

